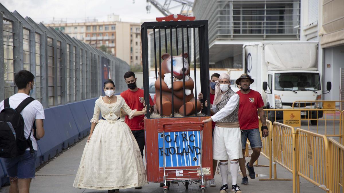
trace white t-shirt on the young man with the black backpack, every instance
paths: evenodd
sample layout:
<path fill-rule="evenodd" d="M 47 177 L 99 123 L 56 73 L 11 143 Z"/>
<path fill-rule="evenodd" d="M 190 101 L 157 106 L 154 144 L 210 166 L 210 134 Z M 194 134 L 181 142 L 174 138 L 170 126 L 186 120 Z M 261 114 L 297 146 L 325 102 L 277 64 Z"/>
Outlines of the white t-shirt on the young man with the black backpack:
<path fill-rule="evenodd" d="M 18 107 L 18 105 L 26 98 L 28 98 L 29 95 L 25 93 L 17 93 L 10 97 L 10 107 L 15 109 Z M 3 101 L 0 103 L 0 111 L 4 109 Z M 29 137 L 29 134 L 31 132 L 31 128 L 33 125 L 33 122 L 35 119 L 45 119 L 44 116 L 44 110 L 43 106 L 39 101 L 32 101 L 30 104 L 28 104 L 23 111 L 20 113 L 23 116 L 24 119 L 24 136 L 27 139 Z M 33 136 L 33 130 L 31 133 L 31 141 L 32 141 L 32 147 L 34 150 L 37 151 L 37 141 L 35 137 Z M 30 148 L 27 148 L 26 150 L 30 150 Z"/>

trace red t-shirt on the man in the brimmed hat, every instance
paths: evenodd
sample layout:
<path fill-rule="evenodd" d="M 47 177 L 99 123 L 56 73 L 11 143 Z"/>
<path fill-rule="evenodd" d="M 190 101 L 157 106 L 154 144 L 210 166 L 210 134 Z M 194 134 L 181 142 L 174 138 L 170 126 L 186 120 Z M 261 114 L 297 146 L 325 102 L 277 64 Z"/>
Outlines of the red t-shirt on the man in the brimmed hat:
<path fill-rule="evenodd" d="M 264 106 L 263 99 L 259 92 L 250 89 L 248 94 L 243 94 L 239 90 L 239 125 L 240 129 L 258 128 L 258 111 L 257 109 Z"/>

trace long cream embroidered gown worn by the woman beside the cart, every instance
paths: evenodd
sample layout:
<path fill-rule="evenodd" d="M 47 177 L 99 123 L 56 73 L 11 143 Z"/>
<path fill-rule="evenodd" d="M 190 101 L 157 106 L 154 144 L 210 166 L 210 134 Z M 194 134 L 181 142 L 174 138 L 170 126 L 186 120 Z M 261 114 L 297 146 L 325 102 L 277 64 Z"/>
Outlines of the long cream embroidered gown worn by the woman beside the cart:
<path fill-rule="evenodd" d="M 106 104 L 97 99 L 91 123 L 98 123 L 86 143 L 74 184 L 75 188 L 96 190 L 126 189 L 148 184 L 141 152 L 128 125 L 120 117 L 123 109 L 129 118 L 131 110 L 124 99 Z M 106 120 L 99 120 L 99 113 Z"/>

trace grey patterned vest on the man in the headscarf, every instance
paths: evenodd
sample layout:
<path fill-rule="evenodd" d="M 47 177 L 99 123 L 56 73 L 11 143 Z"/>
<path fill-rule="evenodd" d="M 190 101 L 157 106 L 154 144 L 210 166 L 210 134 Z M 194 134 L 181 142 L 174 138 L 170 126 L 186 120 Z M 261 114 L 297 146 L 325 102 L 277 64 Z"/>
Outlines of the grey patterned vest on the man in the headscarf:
<path fill-rule="evenodd" d="M 219 103 L 217 103 L 217 105 L 216 105 L 217 111 L 223 109 L 225 107 L 225 105 L 227 104 L 227 102 L 229 101 L 230 97 L 232 97 L 235 94 L 237 94 L 237 93 L 234 92 L 229 87 L 228 91 L 224 94 L 221 101 Z M 222 120 L 218 120 L 217 122 L 219 122 L 219 123 L 235 123 L 234 125 L 237 125 L 237 127 L 239 127 L 238 113 L 239 113 L 239 103 L 237 104 L 237 107 L 235 108 L 235 110 L 230 115 L 223 118 Z M 223 125 L 223 124 L 221 124 L 221 125 Z M 233 125 L 233 124 L 231 124 L 231 125 Z"/>

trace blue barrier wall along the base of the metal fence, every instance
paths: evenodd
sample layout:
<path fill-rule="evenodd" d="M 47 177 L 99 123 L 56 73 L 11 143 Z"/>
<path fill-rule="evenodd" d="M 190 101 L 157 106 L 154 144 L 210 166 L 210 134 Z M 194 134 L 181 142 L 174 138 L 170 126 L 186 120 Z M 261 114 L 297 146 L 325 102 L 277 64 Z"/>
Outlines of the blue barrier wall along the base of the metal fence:
<path fill-rule="evenodd" d="M 37 141 L 36 168 L 89 134 L 95 99 L 50 107 L 44 110 L 44 137 Z M 8 183 L 7 172 L 0 159 L 0 186 Z"/>

